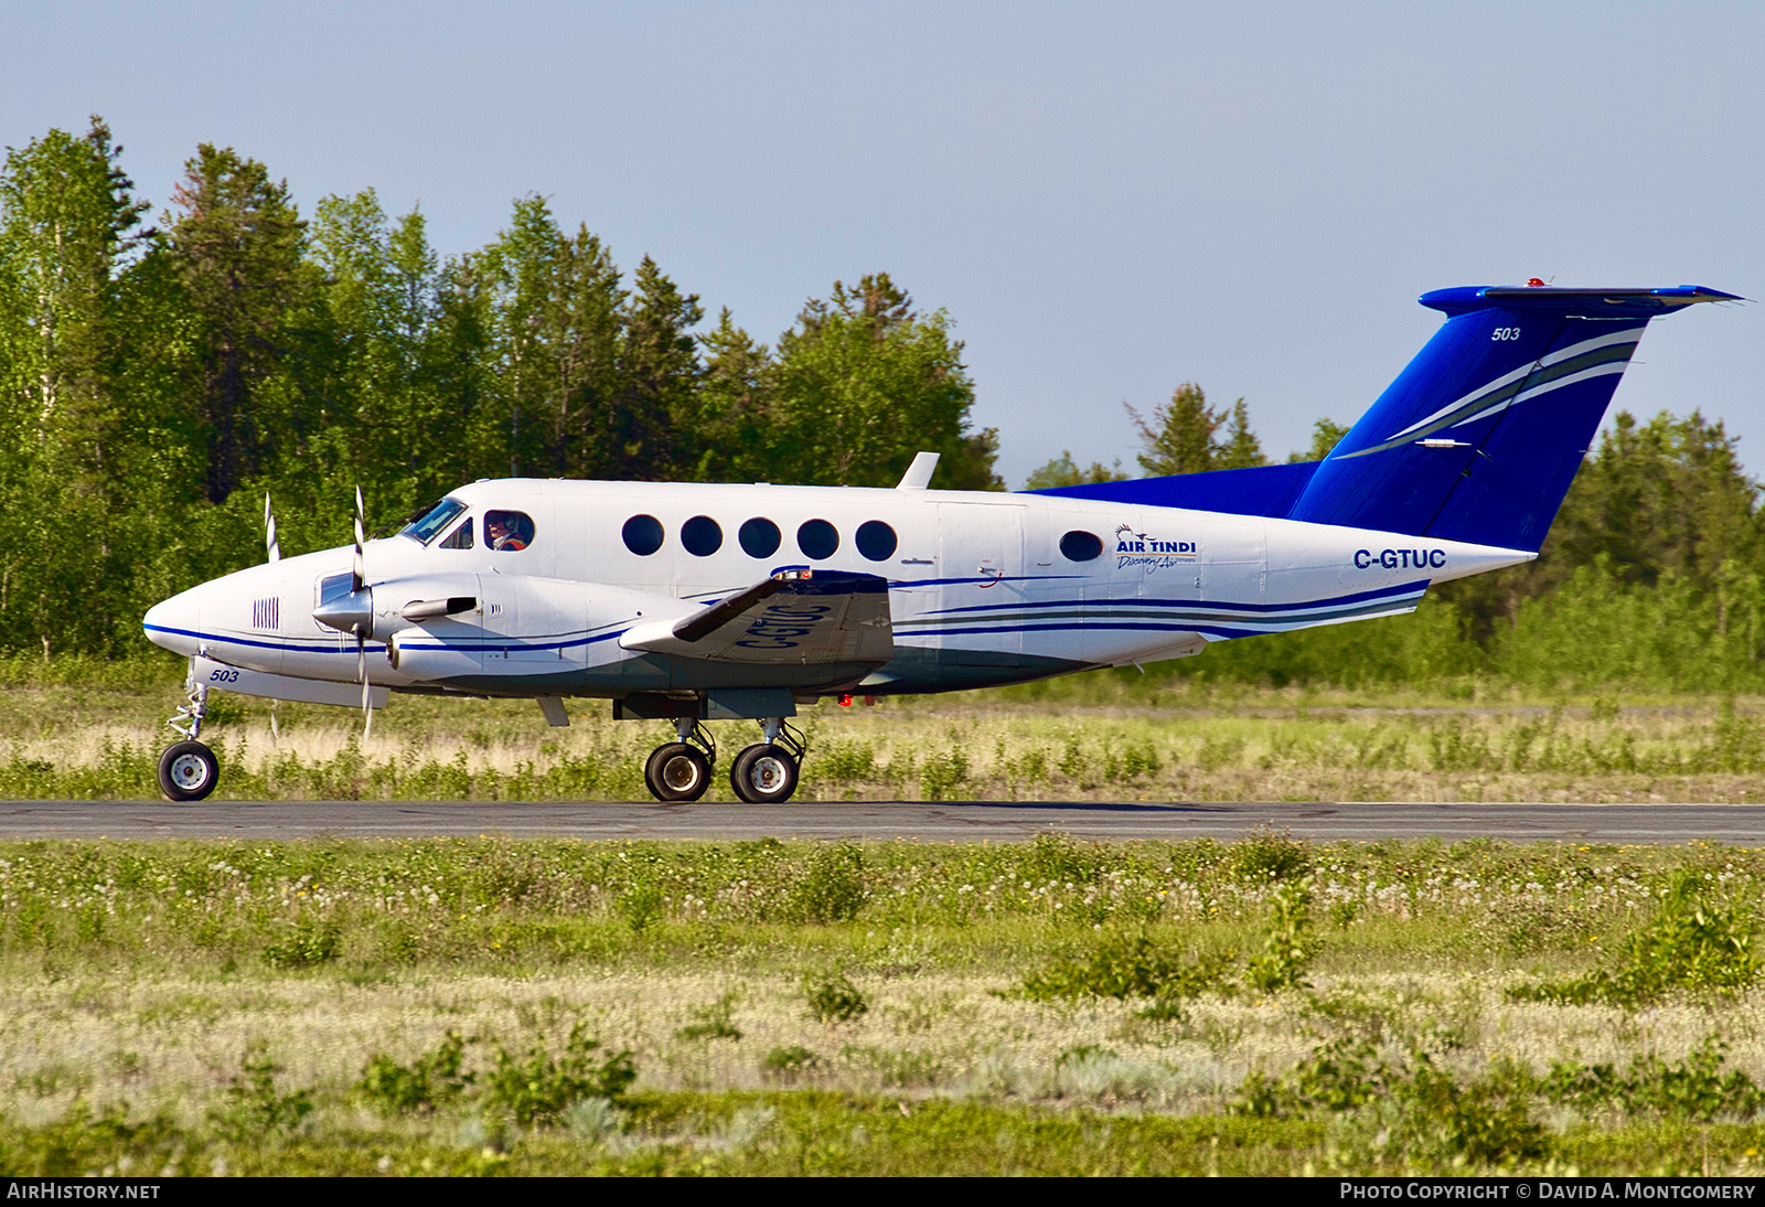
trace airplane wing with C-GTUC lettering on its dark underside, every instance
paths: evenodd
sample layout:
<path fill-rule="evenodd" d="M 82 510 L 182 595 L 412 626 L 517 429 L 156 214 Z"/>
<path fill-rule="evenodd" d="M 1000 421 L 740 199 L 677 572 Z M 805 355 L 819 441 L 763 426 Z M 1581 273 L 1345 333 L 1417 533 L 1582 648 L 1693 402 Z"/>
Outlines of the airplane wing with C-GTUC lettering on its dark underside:
<path fill-rule="evenodd" d="M 895 628 L 886 579 L 787 570 L 688 616 L 635 625 L 620 644 L 708 662 L 881 665 L 895 651 Z"/>

